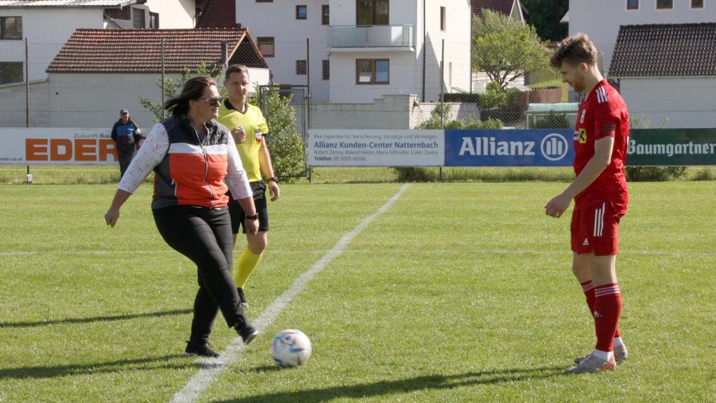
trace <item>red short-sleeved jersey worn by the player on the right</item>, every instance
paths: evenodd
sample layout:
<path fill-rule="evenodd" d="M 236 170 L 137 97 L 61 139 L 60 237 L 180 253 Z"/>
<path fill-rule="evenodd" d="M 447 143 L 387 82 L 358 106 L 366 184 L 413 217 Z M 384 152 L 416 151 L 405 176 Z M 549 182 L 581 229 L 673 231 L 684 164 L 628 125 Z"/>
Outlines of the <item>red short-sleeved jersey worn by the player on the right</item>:
<path fill-rule="evenodd" d="M 594 141 L 614 138 L 609 166 L 574 198 L 575 209 L 589 209 L 611 203 L 616 214 L 627 212 L 629 192 L 624 176 L 629 141 L 629 110 L 621 95 L 601 80 L 579 105 L 574 130 L 574 172 L 576 175 L 594 156 Z"/>

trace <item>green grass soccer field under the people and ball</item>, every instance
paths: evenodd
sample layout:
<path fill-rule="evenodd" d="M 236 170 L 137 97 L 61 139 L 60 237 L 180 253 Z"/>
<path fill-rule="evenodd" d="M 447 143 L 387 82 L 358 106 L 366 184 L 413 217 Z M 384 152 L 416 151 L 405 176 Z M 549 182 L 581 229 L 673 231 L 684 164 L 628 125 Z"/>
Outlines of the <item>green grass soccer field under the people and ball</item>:
<path fill-rule="evenodd" d="M 180 356 L 196 270 L 152 186 L 114 229 L 113 185 L 0 186 L 0 402 L 716 402 L 714 184 L 629 185 L 629 359 L 576 376 L 594 327 L 569 214 L 543 212 L 565 186 L 281 186 L 246 290 L 261 336 L 213 366 Z M 284 328 L 311 338 L 306 366 L 274 365 Z M 215 349 L 235 337 L 218 318 Z"/>

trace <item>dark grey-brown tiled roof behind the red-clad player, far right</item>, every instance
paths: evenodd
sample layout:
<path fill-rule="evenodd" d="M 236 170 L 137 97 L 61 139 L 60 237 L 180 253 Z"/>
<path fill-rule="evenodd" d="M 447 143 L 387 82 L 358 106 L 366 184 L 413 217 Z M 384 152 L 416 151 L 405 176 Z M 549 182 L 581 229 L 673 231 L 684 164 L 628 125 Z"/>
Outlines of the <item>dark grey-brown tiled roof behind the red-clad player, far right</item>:
<path fill-rule="evenodd" d="M 623 25 L 610 77 L 716 75 L 716 23 Z"/>

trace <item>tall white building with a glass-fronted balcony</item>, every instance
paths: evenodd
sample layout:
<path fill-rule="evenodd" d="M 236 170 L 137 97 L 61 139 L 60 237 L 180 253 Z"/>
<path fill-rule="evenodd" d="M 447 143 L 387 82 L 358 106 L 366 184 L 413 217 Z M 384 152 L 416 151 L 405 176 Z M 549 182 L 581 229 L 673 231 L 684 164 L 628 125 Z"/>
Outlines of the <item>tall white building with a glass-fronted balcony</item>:
<path fill-rule="evenodd" d="M 469 0 L 236 2 L 236 22 L 251 29 L 274 82 L 310 81 L 311 100 L 330 103 L 469 91 L 471 15 Z"/>

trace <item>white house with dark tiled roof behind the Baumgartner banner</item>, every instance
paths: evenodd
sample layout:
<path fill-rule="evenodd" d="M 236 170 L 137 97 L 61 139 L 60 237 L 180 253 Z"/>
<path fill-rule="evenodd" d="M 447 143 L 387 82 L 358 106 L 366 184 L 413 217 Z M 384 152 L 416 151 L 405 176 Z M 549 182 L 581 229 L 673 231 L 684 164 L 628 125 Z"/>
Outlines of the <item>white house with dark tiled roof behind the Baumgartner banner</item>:
<path fill-rule="evenodd" d="M 624 25 L 610 76 L 632 121 L 648 128 L 716 127 L 716 22 Z"/>

